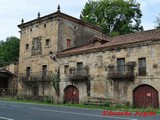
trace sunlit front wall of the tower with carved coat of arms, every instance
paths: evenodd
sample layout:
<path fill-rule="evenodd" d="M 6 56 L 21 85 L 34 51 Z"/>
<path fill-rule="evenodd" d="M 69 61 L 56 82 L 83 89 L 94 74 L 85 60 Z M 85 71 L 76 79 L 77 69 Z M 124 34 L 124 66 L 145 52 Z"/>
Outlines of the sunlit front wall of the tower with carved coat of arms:
<path fill-rule="evenodd" d="M 57 63 L 49 57 L 49 52 L 57 52 L 58 40 L 58 26 L 57 19 L 39 22 L 37 24 L 22 28 L 20 40 L 20 57 L 19 57 L 19 74 L 25 74 L 26 68 L 31 68 L 31 73 L 42 72 L 42 66 L 47 65 L 47 71 L 52 71 L 53 74 L 57 69 Z M 33 40 L 40 38 L 40 51 L 37 55 L 33 54 Z M 46 40 L 49 39 L 49 45 L 46 46 Z M 29 44 L 29 49 L 26 50 L 26 44 Z M 38 94 L 42 95 L 42 83 L 38 84 Z M 48 83 L 51 84 L 51 83 Z M 30 85 L 31 86 L 31 85 Z M 53 87 L 44 86 L 43 95 L 54 95 Z M 19 82 L 19 94 L 32 95 L 32 90 Z M 28 90 L 28 91 L 26 91 Z"/>

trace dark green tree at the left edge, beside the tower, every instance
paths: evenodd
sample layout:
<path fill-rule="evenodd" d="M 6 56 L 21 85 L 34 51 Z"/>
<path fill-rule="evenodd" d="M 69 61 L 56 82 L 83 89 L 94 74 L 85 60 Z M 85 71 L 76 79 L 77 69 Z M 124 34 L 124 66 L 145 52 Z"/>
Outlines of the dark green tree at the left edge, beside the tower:
<path fill-rule="evenodd" d="M 0 67 L 18 62 L 19 42 L 16 37 L 8 37 L 6 41 L 0 41 Z"/>

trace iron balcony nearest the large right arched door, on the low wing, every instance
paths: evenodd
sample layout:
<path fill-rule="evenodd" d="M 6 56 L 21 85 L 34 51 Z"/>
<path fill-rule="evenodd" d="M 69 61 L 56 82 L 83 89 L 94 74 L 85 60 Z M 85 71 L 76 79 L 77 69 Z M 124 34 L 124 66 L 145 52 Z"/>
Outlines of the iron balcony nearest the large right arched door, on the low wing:
<path fill-rule="evenodd" d="M 133 80 L 134 66 L 132 65 L 109 66 L 108 77 L 111 79 Z"/>

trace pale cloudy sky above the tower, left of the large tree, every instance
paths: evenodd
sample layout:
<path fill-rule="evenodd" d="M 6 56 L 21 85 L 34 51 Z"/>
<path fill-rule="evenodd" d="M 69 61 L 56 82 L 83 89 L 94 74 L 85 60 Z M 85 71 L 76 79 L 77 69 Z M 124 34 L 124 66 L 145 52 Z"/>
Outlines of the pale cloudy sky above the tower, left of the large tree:
<path fill-rule="evenodd" d="M 37 13 L 41 16 L 61 11 L 74 17 L 79 17 L 85 0 L 0 0 L 0 40 L 15 35 L 18 36 L 17 24 L 24 18 L 25 22 L 35 19 Z"/>

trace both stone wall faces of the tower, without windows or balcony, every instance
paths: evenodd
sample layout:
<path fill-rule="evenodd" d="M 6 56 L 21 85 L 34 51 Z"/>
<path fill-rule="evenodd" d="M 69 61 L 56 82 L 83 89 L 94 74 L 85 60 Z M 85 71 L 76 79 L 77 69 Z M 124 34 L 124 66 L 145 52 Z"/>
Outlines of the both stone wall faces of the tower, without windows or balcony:
<path fill-rule="evenodd" d="M 36 23 L 36 22 L 35 22 Z M 47 65 L 47 70 L 53 74 L 58 70 L 58 61 L 53 61 L 49 57 L 49 52 L 52 51 L 56 55 L 57 51 L 67 49 L 67 39 L 71 40 L 70 47 L 76 47 L 88 43 L 88 40 L 94 35 L 101 35 L 98 30 L 80 25 L 79 23 L 66 20 L 61 17 L 41 21 L 36 24 L 22 27 L 20 40 L 20 57 L 19 57 L 19 74 L 25 74 L 26 68 L 31 68 L 31 73 L 42 71 L 42 66 Z M 38 40 L 36 40 L 38 39 Z M 49 46 L 46 46 L 46 39 L 50 40 Z M 34 50 L 37 46 L 38 50 Z M 26 50 L 26 44 L 28 49 Z M 42 92 L 45 95 L 55 95 L 53 86 L 44 87 L 38 85 L 39 95 Z M 84 85 L 82 85 L 84 86 Z M 25 86 L 22 82 L 19 83 L 19 94 L 32 95 L 31 88 Z M 27 91 L 28 90 L 28 91 Z"/>

